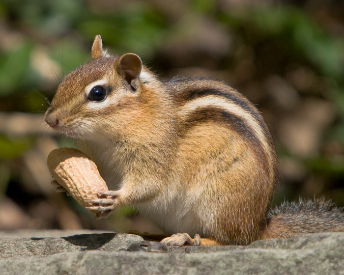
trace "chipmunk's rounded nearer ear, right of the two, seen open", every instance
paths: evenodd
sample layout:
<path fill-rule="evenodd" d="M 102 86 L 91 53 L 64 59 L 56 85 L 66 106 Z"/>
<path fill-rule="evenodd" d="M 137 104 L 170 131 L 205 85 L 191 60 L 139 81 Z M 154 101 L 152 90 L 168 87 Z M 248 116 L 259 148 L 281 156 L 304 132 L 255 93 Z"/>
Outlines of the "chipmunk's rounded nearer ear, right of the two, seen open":
<path fill-rule="evenodd" d="M 118 61 L 115 62 L 117 72 L 124 74 L 125 80 L 131 83 L 133 79 L 140 76 L 142 69 L 142 61 L 139 55 L 135 54 L 124 54 L 119 57 Z"/>

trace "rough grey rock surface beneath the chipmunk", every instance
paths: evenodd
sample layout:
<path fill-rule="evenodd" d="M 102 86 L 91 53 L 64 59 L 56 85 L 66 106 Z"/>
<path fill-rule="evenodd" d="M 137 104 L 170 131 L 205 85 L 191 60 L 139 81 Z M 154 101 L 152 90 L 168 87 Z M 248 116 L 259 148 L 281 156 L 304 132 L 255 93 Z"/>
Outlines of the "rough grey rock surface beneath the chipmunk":
<path fill-rule="evenodd" d="M 0 270 L 1 275 L 344 275 L 343 247 L 344 233 L 167 248 L 132 234 L 24 230 L 0 232 Z"/>

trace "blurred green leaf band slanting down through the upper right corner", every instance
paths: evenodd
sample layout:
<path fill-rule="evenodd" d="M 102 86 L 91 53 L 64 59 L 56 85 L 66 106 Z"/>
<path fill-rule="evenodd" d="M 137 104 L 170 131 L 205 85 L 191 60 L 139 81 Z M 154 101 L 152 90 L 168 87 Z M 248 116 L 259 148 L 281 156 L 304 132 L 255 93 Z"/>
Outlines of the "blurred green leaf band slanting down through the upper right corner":
<path fill-rule="evenodd" d="M 262 6 L 229 14 L 237 17 L 241 27 L 249 31 L 247 39 L 263 41 L 266 37 L 280 39 L 286 53 L 301 53 L 325 76 L 341 79 L 344 73 L 344 41 L 331 37 L 302 10 L 287 5 Z M 228 23 L 235 24 L 235 20 Z"/>

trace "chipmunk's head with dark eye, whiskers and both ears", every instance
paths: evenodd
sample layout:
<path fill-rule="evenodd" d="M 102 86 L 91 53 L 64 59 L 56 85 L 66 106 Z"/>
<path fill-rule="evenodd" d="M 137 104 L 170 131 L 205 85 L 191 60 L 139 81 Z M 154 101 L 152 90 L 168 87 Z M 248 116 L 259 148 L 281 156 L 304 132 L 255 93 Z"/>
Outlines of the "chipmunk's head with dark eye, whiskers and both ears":
<path fill-rule="evenodd" d="M 160 84 L 138 55 L 109 55 L 99 35 L 91 54 L 90 62 L 64 77 L 45 121 L 73 138 L 124 135 L 158 106 L 152 91 Z"/>

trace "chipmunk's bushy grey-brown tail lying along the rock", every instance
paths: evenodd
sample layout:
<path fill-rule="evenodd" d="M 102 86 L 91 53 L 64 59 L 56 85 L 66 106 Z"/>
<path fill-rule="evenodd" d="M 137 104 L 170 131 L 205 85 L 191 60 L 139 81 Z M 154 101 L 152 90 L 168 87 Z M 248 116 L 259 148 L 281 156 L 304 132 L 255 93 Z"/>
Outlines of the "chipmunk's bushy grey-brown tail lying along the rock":
<path fill-rule="evenodd" d="M 324 198 L 283 202 L 267 215 L 260 239 L 288 238 L 301 233 L 344 231 L 344 208 Z"/>

